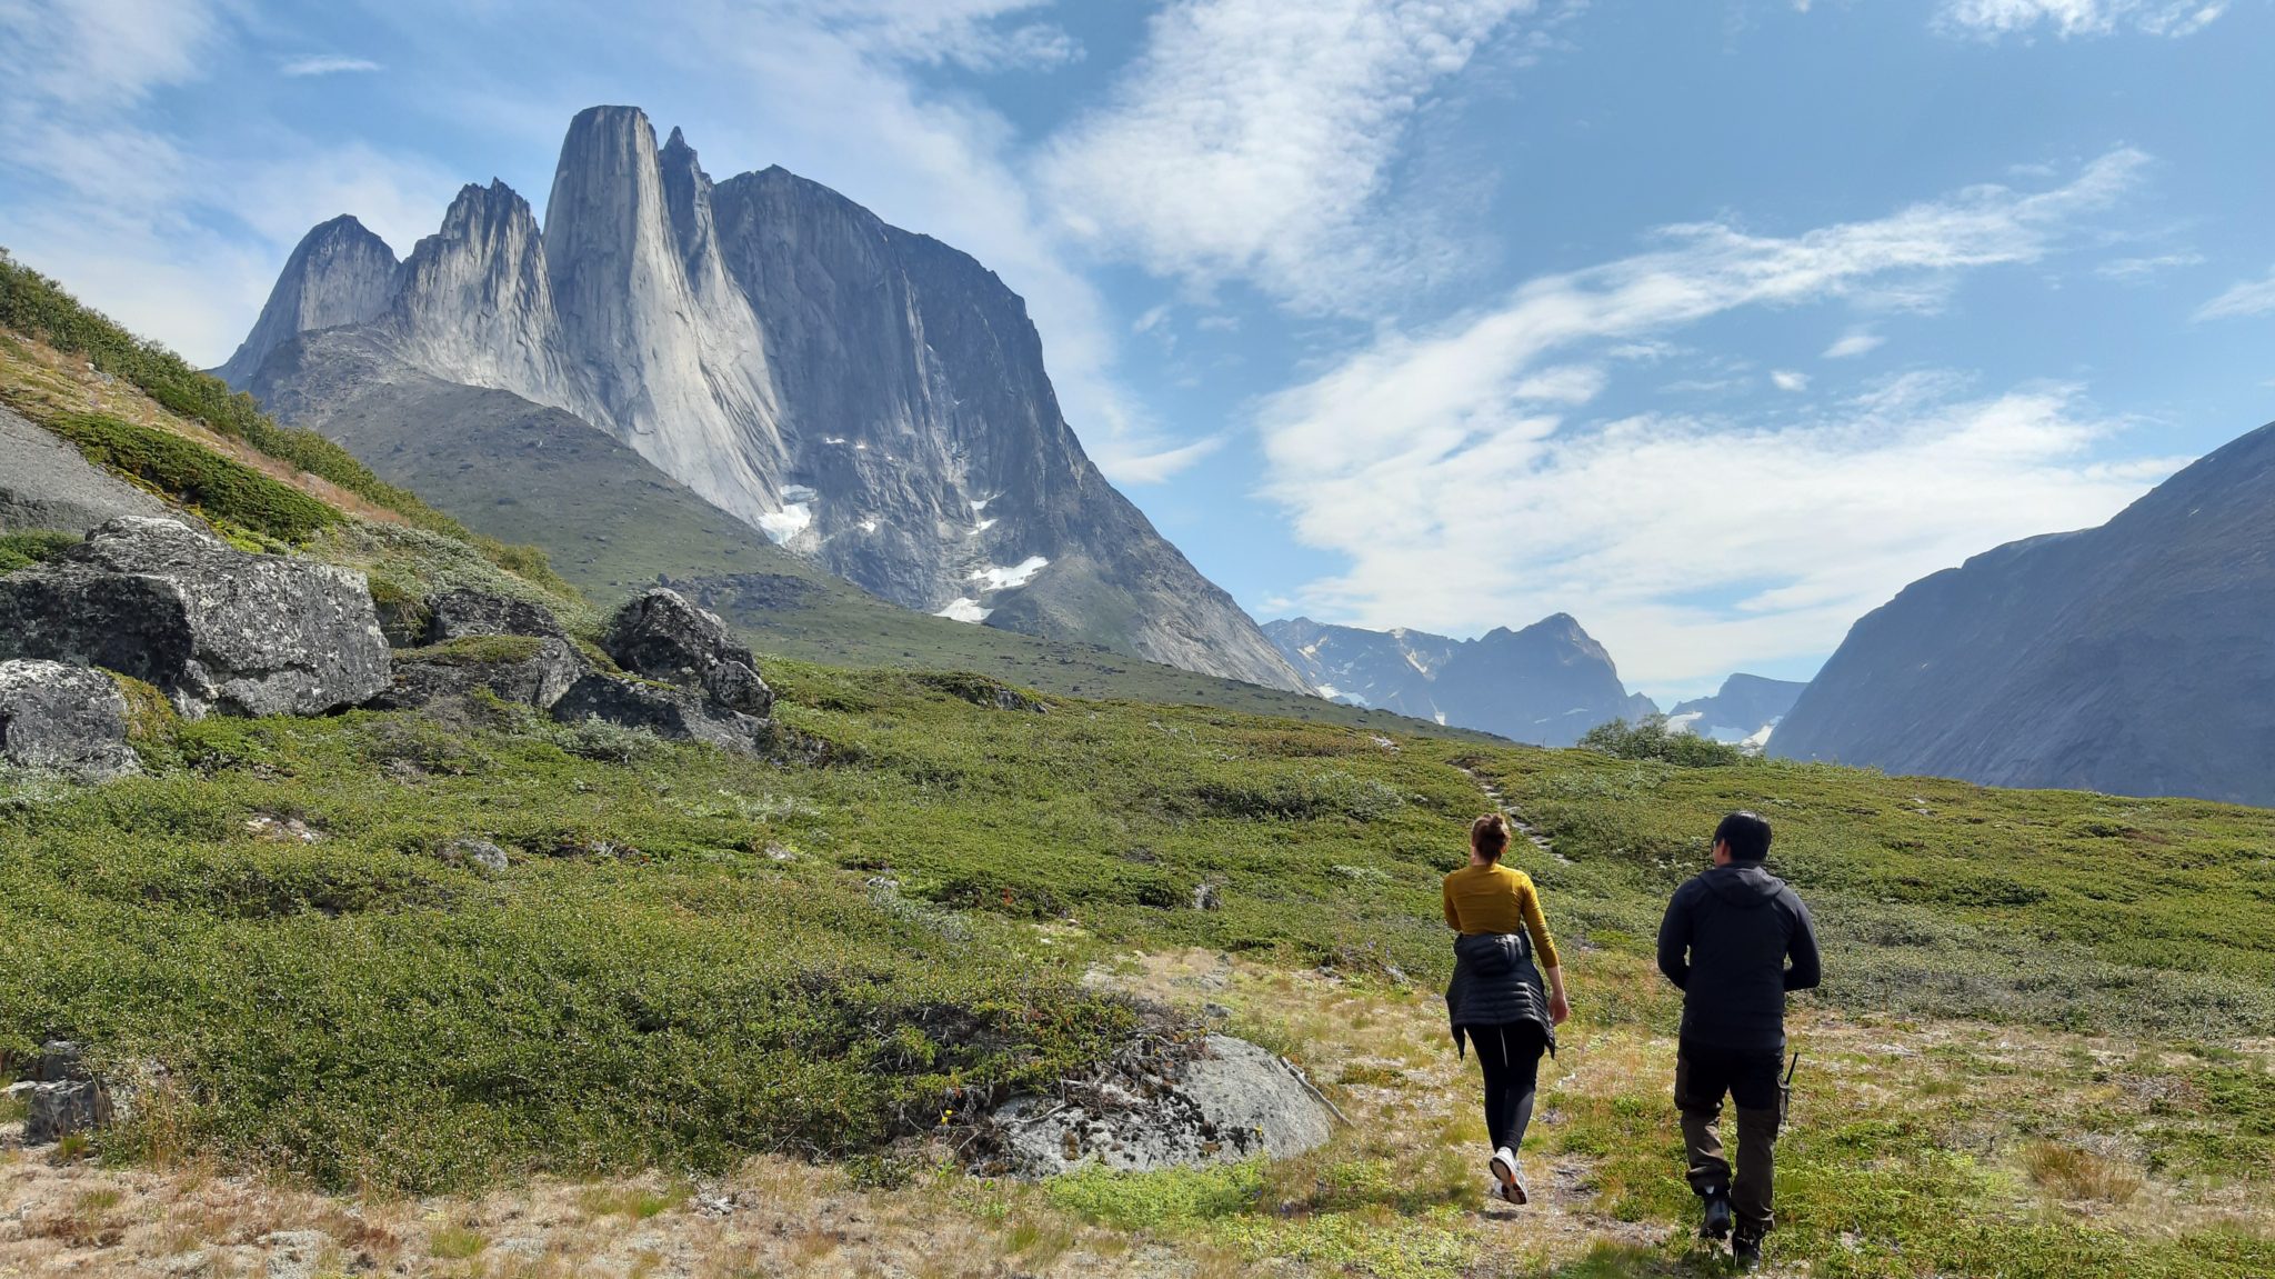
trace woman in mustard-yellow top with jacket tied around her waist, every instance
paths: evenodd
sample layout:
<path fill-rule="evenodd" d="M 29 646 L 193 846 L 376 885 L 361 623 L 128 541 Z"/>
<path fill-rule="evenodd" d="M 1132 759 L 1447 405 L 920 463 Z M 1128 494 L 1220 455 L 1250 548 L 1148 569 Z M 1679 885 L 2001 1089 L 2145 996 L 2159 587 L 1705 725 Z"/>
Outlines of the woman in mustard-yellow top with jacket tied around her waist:
<path fill-rule="evenodd" d="M 1531 876 L 1502 865 L 1506 851 L 1508 819 L 1488 812 L 1470 824 L 1470 865 L 1445 876 L 1445 922 L 1461 933 L 1445 1010 L 1454 1022 L 1454 1051 L 1463 1051 L 1467 1038 L 1486 1067 L 1488 1170 L 1504 1199 L 1524 1204 L 1531 1193 L 1517 1149 L 1533 1120 L 1540 1054 L 1554 1056 L 1556 1026 L 1572 1015 L 1572 1006 L 1556 942 L 1540 915 L 1540 892 Z M 1540 988 L 1542 972 L 1547 992 Z"/>

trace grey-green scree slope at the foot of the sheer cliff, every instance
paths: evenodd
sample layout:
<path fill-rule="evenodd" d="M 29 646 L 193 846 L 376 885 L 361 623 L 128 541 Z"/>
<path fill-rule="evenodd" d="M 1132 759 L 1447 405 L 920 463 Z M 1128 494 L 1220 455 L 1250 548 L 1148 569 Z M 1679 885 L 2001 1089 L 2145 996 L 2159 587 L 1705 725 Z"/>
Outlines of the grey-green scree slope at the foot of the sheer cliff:
<path fill-rule="evenodd" d="M 851 667 L 967 669 L 1074 696 L 1481 740 L 1090 644 L 896 608 L 780 551 L 580 419 L 507 391 L 432 380 L 389 387 L 346 398 L 323 430 L 466 526 L 544 546 L 594 601 L 614 603 L 667 576 L 701 592 L 762 653 Z"/>

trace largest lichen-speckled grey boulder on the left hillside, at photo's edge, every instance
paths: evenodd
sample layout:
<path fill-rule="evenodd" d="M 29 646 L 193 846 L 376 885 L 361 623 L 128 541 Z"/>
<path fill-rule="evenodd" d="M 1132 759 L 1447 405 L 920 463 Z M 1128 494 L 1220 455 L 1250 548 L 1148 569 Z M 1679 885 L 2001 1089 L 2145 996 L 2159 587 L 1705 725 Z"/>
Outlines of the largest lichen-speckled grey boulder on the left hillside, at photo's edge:
<path fill-rule="evenodd" d="M 0 658 L 150 680 L 187 717 L 321 715 L 387 690 L 362 574 L 248 555 L 177 519 L 123 517 L 0 578 Z"/>

